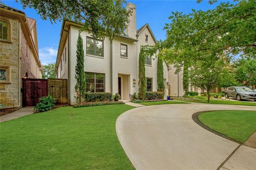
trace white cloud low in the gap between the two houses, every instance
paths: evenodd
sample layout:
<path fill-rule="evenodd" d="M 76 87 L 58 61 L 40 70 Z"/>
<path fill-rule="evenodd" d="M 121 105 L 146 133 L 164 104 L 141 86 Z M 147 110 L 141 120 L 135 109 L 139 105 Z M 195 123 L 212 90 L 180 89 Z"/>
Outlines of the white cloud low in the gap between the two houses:
<path fill-rule="evenodd" d="M 58 49 L 54 47 L 44 47 L 39 49 L 39 60 L 42 65 L 55 63 Z"/>

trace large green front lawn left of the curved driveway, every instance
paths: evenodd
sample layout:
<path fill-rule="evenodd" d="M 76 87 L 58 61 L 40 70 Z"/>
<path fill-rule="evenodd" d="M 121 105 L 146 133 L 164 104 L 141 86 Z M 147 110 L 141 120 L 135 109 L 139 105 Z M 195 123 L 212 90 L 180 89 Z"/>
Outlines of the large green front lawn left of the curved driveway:
<path fill-rule="evenodd" d="M 128 105 L 60 107 L 0 124 L 0 169 L 134 169 L 116 135 Z"/>

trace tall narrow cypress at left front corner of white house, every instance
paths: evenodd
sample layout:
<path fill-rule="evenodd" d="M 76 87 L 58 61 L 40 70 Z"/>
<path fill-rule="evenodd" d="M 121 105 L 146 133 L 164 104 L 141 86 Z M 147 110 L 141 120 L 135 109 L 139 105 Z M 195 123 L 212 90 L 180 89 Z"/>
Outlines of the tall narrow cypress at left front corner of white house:
<path fill-rule="evenodd" d="M 82 103 L 82 98 L 85 97 L 85 73 L 84 73 L 84 49 L 83 49 L 83 39 L 78 34 L 77 44 L 76 44 L 76 99 L 79 103 Z"/>

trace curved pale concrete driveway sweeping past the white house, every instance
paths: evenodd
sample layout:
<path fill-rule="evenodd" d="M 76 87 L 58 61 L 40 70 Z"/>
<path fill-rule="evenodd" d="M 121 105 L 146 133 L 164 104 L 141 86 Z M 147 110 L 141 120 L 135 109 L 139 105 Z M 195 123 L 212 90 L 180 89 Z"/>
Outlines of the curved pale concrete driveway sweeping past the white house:
<path fill-rule="evenodd" d="M 119 116 L 116 131 L 136 169 L 256 169 L 256 149 L 209 132 L 191 118 L 196 112 L 233 109 L 256 111 L 197 103 L 143 106 Z"/>

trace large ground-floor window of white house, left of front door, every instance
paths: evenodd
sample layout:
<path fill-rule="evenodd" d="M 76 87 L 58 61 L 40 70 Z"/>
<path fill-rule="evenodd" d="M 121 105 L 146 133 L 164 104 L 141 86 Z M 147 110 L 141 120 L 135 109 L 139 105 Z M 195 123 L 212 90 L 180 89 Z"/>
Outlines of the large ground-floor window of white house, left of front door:
<path fill-rule="evenodd" d="M 105 74 L 85 73 L 85 92 L 104 92 Z"/>

